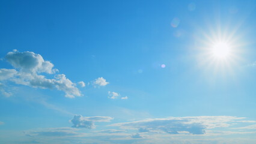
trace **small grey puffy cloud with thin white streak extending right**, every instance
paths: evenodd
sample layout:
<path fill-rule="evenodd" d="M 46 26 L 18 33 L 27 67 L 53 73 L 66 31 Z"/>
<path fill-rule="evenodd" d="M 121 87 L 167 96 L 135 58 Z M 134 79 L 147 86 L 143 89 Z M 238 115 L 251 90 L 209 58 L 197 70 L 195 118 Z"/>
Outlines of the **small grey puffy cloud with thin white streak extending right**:
<path fill-rule="evenodd" d="M 109 116 L 82 116 L 82 115 L 75 115 L 72 120 L 73 123 L 72 127 L 77 128 L 88 128 L 93 129 L 95 128 L 94 122 L 109 122 L 111 121 L 111 117 Z"/>

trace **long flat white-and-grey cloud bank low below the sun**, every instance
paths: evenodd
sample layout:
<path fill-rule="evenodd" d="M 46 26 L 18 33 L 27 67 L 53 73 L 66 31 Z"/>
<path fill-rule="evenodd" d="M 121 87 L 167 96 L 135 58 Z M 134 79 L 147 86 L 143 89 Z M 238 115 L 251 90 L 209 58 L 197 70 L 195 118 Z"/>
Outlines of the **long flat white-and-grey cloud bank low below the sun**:
<path fill-rule="evenodd" d="M 237 119 L 242 118 L 235 116 L 188 116 L 122 122 L 110 126 L 123 129 L 138 129 L 139 132 L 205 134 L 207 128 L 228 127 L 230 122 Z"/>

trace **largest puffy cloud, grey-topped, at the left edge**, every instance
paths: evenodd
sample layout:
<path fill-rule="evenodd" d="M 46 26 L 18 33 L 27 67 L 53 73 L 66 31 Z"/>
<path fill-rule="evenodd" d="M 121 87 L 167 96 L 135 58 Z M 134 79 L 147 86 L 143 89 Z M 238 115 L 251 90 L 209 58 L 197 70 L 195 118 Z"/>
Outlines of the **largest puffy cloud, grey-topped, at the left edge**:
<path fill-rule="evenodd" d="M 65 74 L 55 74 L 58 70 L 39 54 L 14 50 L 8 52 L 5 59 L 16 69 L 0 69 L 0 80 L 10 80 L 34 88 L 58 89 L 64 91 L 69 98 L 82 95 L 75 83 L 67 79 Z M 55 75 L 53 79 L 47 79 L 42 73 Z"/>

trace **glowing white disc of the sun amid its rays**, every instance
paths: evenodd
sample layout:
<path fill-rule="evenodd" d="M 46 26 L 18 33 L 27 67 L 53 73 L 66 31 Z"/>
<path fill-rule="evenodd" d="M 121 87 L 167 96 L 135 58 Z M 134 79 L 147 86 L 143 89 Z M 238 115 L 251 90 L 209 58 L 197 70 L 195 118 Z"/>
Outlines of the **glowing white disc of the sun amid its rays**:
<path fill-rule="evenodd" d="M 212 56 L 216 59 L 228 58 L 231 54 L 231 45 L 224 41 L 214 43 L 211 47 Z"/>

